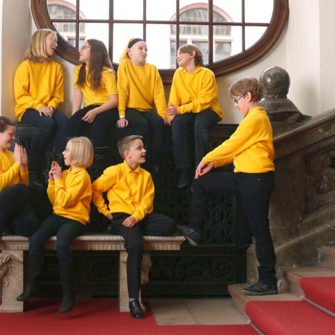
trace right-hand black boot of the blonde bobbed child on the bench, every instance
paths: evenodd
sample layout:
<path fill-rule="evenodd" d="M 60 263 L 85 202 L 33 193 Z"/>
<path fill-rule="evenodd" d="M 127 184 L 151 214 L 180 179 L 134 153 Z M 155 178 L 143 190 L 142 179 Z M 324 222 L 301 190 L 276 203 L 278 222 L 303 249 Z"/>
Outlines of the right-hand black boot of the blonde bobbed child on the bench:
<path fill-rule="evenodd" d="M 70 312 L 74 305 L 74 265 L 73 263 L 60 265 L 63 299 L 59 307 L 60 312 Z"/>

